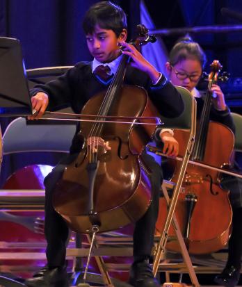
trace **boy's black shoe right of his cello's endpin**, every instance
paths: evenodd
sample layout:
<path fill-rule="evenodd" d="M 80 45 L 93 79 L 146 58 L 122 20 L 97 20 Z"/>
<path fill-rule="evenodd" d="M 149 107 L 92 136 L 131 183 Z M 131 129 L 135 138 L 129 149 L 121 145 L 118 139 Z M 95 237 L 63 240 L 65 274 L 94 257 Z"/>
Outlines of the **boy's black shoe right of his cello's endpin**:
<path fill-rule="evenodd" d="M 156 278 L 154 278 L 154 274 L 148 260 L 133 263 L 130 271 L 129 284 L 135 287 L 161 286 Z"/>

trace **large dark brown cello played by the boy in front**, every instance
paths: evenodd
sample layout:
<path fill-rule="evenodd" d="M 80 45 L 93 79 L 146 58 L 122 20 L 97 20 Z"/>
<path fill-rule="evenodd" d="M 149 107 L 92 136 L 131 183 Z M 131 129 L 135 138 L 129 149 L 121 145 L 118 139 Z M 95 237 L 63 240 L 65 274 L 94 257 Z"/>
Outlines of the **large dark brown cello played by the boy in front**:
<path fill-rule="evenodd" d="M 146 28 L 140 31 L 136 44 L 154 41 L 146 33 Z M 92 97 L 81 113 L 101 120 L 107 115 L 158 115 L 143 88 L 123 85 L 127 63 L 129 56 L 123 55 L 108 91 Z M 91 233 L 94 226 L 98 232 L 117 229 L 136 222 L 147 211 L 151 201 L 149 170 L 140 155 L 155 128 L 103 121 L 82 125 L 81 152 L 65 168 L 53 197 L 54 208 L 72 230 Z"/>

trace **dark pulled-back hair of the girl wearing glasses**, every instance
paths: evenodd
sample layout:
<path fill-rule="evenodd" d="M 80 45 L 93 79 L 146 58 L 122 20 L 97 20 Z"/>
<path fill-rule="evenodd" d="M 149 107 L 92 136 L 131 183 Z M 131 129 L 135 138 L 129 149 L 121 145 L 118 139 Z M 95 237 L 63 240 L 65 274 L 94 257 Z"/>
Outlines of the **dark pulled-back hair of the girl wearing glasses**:
<path fill-rule="evenodd" d="M 195 58 L 199 60 L 204 68 L 204 65 L 207 62 L 207 57 L 204 54 L 204 51 L 200 47 L 200 44 L 194 42 L 190 37 L 186 36 L 180 38 L 177 43 L 172 47 L 169 55 L 169 62 L 172 66 L 179 63 L 181 60 Z"/>

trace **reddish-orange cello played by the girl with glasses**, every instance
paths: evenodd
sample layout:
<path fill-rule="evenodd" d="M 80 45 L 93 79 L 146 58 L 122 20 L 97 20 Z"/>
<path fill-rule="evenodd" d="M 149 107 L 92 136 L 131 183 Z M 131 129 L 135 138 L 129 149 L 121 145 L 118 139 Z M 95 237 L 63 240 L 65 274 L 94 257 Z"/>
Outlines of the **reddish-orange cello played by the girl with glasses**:
<path fill-rule="evenodd" d="M 196 163 L 222 168 L 230 164 L 234 135 L 227 126 L 209 121 L 212 101 L 210 88 L 218 80 L 220 69 L 218 60 L 214 60 L 211 64 L 209 86 L 191 158 Z M 186 142 L 186 133 L 176 130 L 175 138 L 179 142 L 181 147 L 179 153 L 182 155 L 184 151 L 181 143 Z M 172 181 L 177 181 L 177 174 L 173 176 Z M 220 188 L 219 172 L 189 163 L 182 186 L 175 214 L 184 234 L 188 252 L 206 254 L 222 249 L 231 231 L 232 208 L 228 192 Z M 161 198 L 160 214 L 156 222 L 158 233 L 163 229 L 163 218 L 166 218 L 163 212 L 166 212 L 166 202 Z M 169 234 L 175 234 L 172 227 Z M 166 246 L 168 249 L 179 251 L 179 246 L 175 242 L 170 242 Z"/>

